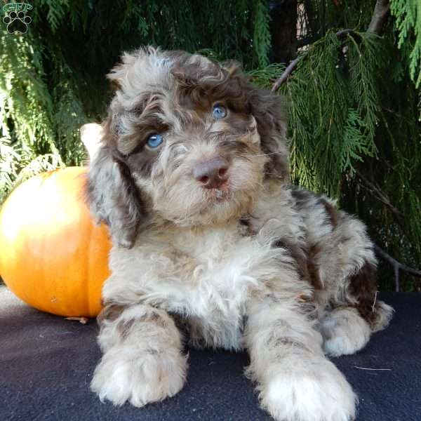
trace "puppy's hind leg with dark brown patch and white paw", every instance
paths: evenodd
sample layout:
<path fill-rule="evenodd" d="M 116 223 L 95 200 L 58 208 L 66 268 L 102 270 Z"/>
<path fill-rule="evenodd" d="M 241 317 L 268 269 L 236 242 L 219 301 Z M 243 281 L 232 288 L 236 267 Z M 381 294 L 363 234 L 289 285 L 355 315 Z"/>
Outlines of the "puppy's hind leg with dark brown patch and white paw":
<path fill-rule="evenodd" d="M 354 354 L 362 349 L 370 335 L 384 329 L 393 316 L 389 305 L 377 300 L 375 282 L 375 255 L 371 241 L 364 232 L 361 222 L 352 220 L 347 215 L 343 220 L 351 220 L 354 232 L 347 235 L 338 249 L 342 254 L 330 250 L 324 259 L 331 262 L 340 261 L 341 272 L 332 283 L 329 297 L 329 311 L 321 319 L 319 330 L 323 335 L 323 348 L 330 356 Z M 351 224 L 350 223 L 350 224 Z M 340 229 L 341 225 L 338 225 Z M 343 250 L 347 250 L 345 253 Z"/>

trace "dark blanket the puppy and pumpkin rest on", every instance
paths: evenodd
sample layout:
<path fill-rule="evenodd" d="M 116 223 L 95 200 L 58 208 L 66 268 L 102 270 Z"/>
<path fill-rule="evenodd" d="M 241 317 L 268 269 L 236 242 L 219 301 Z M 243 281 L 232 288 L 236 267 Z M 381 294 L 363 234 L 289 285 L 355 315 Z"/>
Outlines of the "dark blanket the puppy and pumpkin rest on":
<path fill-rule="evenodd" d="M 381 298 L 396 309 L 391 326 L 334 362 L 359 395 L 359 421 L 420 421 L 421 295 Z M 145 408 L 100 403 L 89 389 L 97 330 L 95 321 L 38 312 L 0 287 L 0 420 L 271 420 L 243 376 L 246 354 L 225 351 L 189 349 L 187 385 L 172 399 Z"/>

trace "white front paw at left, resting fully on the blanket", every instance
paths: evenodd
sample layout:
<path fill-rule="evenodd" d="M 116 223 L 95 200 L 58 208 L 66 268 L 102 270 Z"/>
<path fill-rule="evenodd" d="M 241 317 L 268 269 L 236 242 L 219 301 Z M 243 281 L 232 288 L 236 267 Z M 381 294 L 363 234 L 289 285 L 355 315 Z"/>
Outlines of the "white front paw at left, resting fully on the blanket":
<path fill-rule="evenodd" d="M 110 349 L 95 368 L 91 389 L 101 401 L 107 399 L 114 405 L 130 401 L 140 407 L 180 392 L 186 373 L 187 357 L 176 349 L 136 356 Z"/>

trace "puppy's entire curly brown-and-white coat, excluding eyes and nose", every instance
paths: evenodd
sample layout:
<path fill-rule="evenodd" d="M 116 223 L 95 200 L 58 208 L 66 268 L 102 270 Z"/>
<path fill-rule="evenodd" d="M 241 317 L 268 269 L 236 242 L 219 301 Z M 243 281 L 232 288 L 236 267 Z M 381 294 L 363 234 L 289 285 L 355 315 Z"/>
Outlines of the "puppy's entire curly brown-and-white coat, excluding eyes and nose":
<path fill-rule="evenodd" d="M 356 395 L 325 354 L 361 349 L 392 308 L 375 300 L 363 224 L 288 185 L 281 99 L 236 63 L 154 48 L 124 54 L 109 79 L 87 183 L 114 243 L 92 389 L 117 405 L 173 396 L 188 335 L 246 349 L 246 375 L 276 420 L 352 420 Z M 206 188 L 194 174 L 215 159 L 225 181 Z"/>

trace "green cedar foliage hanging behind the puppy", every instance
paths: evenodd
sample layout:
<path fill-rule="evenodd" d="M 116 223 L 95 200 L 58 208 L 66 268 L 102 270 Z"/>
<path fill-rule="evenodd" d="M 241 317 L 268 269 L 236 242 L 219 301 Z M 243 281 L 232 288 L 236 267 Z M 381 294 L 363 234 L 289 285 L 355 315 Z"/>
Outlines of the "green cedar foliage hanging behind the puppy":
<path fill-rule="evenodd" d="M 83 163 L 79 127 L 105 115 L 105 74 L 121 51 L 152 44 L 234 58 L 270 88 L 288 64 L 269 64 L 271 10 L 297 5 L 298 41 L 309 42 L 280 90 L 293 180 L 337 198 L 379 246 L 420 266 L 419 0 L 391 0 L 381 37 L 366 32 L 375 0 L 32 4 L 26 34 L 8 34 L 0 22 L 0 201 L 30 175 Z M 353 32 L 338 38 L 342 28 Z M 382 288 L 391 288 L 392 271 L 382 272 Z"/>

